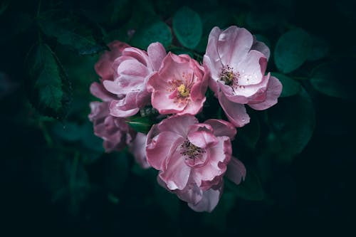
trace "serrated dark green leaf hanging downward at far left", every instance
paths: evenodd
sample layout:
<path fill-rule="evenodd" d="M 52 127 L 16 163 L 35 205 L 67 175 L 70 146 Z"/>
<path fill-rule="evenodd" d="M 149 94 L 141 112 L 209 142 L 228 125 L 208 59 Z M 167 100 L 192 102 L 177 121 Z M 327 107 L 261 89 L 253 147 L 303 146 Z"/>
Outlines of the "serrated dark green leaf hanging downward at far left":
<path fill-rule="evenodd" d="M 63 120 L 71 102 L 71 87 L 56 55 L 44 43 L 33 46 L 26 58 L 26 88 L 32 105 L 43 115 Z"/>

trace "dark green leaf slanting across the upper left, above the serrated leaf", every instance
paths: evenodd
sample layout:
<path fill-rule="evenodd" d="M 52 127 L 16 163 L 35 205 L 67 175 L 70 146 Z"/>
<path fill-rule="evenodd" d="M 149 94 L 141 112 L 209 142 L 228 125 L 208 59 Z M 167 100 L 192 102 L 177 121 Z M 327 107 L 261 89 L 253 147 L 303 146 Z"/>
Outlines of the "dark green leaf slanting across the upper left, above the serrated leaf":
<path fill-rule="evenodd" d="M 88 19 L 51 11 L 38 18 L 38 25 L 46 36 L 56 38 L 58 43 L 80 55 L 92 55 L 107 48 L 101 29 Z"/>

